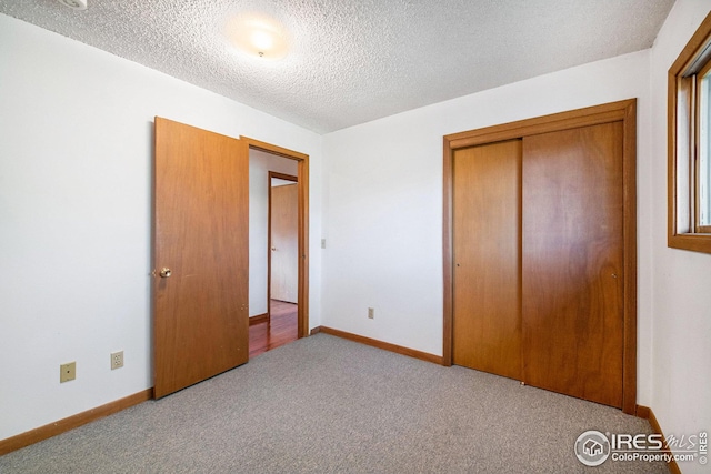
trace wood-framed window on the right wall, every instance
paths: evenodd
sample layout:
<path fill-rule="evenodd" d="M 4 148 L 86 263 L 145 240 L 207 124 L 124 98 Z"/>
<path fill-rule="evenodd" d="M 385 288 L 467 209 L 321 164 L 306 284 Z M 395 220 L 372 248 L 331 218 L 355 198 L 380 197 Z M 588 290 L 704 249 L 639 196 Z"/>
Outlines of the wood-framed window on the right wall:
<path fill-rule="evenodd" d="M 669 246 L 711 253 L 711 13 L 669 70 Z"/>

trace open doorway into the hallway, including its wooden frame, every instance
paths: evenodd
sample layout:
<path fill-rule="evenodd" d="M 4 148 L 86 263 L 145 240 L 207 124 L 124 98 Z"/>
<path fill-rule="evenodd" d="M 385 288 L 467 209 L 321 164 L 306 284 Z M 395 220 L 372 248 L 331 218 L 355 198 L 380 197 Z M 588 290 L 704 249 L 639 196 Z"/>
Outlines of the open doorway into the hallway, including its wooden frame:
<path fill-rule="evenodd" d="M 251 139 L 250 357 L 308 335 L 308 157 Z"/>

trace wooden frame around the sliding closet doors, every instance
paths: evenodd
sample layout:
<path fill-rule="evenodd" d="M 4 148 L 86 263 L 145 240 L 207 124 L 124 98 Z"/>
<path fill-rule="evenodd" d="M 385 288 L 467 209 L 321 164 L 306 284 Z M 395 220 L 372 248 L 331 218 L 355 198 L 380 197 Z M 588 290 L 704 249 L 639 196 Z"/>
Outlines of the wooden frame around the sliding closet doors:
<path fill-rule="evenodd" d="M 538 133 L 618 121 L 622 122 L 623 129 L 622 241 L 625 278 L 623 286 L 622 411 L 628 414 L 637 413 L 637 99 L 588 107 L 444 137 L 442 200 L 443 365 L 452 365 L 453 349 L 453 152 L 463 148 Z"/>

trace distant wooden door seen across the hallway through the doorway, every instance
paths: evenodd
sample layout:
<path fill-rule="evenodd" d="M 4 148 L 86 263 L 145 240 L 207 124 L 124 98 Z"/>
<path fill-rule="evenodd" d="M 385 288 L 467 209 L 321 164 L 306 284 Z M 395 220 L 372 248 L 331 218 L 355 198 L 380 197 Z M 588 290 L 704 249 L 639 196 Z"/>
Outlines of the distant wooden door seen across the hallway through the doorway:
<path fill-rule="evenodd" d="M 297 303 L 299 288 L 299 186 L 271 188 L 270 297 Z"/>

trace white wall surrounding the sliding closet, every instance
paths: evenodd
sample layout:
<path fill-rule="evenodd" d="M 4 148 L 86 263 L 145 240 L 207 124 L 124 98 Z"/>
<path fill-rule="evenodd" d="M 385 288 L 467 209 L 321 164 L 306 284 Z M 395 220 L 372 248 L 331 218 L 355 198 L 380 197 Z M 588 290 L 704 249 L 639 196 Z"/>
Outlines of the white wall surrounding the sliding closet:
<path fill-rule="evenodd" d="M 324 135 L 323 324 L 441 355 L 442 137 L 630 98 L 639 99 L 639 189 L 648 196 L 649 51 Z M 650 400 L 649 205 L 640 199 L 641 403 Z"/>

